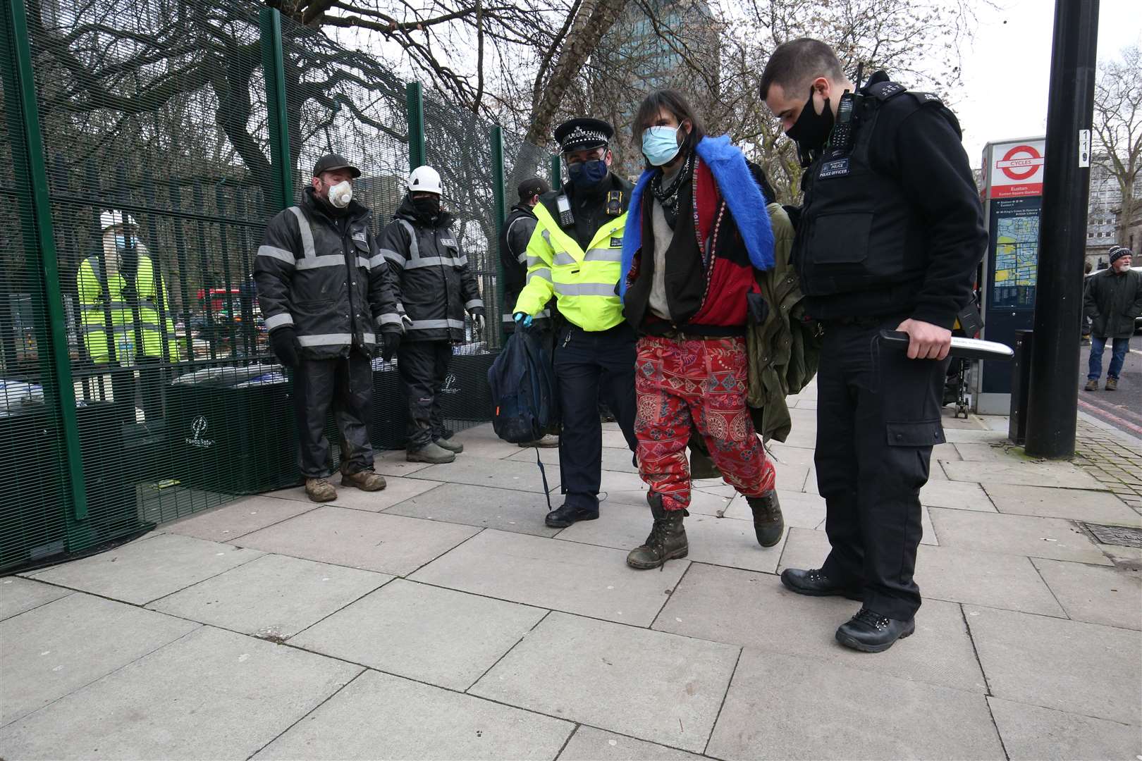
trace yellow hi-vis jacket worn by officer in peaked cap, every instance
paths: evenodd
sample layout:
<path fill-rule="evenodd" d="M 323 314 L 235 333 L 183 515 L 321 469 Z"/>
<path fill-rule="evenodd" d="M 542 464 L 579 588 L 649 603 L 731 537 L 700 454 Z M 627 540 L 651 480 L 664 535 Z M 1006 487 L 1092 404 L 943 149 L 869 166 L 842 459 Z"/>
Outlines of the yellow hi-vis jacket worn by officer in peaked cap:
<path fill-rule="evenodd" d="M 536 232 L 528 242 L 528 280 L 515 309 L 536 316 L 554 294 L 560 314 L 585 331 L 622 322 L 616 284 L 622 274 L 622 230 L 627 213 L 606 217 L 587 250 L 563 230 L 542 203 L 534 207 Z"/>

